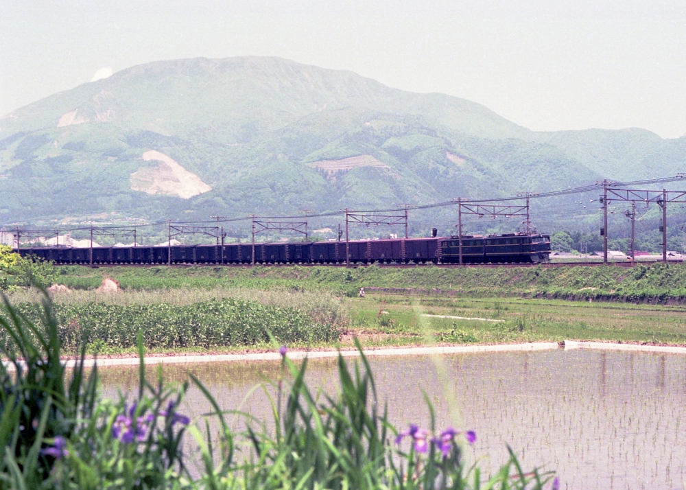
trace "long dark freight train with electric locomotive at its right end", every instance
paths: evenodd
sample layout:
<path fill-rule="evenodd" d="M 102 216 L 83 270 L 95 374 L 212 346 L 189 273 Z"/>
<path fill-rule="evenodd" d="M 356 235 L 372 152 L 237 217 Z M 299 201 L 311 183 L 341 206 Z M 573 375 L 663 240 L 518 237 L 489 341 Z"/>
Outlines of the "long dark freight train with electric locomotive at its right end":
<path fill-rule="evenodd" d="M 346 249 L 348 252 L 346 253 Z M 458 264 L 458 237 L 354 240 L 350 242 L 236 243 L 125 247 L 21 248 L 55 264 Z M 464 264 L 538 263 L 547 261 L 550 237 L 531 233 L 463 235 Z M 171 257 L 170 257 L 171 255 Z"/>

